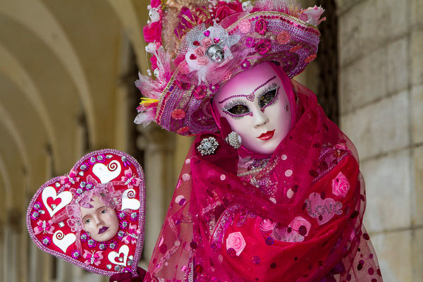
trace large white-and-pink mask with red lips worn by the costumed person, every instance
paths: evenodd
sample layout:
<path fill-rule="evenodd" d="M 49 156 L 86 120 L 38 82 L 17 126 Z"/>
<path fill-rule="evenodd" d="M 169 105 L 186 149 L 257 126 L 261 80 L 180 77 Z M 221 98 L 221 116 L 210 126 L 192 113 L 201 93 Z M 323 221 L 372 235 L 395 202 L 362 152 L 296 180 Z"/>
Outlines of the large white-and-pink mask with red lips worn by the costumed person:
<path fill-rule="evenodd" d="M 271 63 L 235 75 L 216 93 L 213 106 L 241 145 L 257 154 L 272 154 L 291 128 L 290 103 Z"/>

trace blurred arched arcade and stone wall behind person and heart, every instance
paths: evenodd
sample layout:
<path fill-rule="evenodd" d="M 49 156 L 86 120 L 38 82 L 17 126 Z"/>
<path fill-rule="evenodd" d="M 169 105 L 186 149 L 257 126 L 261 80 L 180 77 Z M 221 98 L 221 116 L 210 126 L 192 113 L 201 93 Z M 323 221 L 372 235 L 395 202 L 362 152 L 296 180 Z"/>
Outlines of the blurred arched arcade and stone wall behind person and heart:
<path fill-rule="evenodd" d="M 296 79 L 357 147 L 384 281 L 423 281 L 423 0 L 300 2 L 326 22 Z M 0 281 L 108 281 L 44 254 L 25 226 L 35 191 L 101 148 L 145 169 L 147 266 L 192 142 L 133 123 L 147 4 L 0 0 Z"/>

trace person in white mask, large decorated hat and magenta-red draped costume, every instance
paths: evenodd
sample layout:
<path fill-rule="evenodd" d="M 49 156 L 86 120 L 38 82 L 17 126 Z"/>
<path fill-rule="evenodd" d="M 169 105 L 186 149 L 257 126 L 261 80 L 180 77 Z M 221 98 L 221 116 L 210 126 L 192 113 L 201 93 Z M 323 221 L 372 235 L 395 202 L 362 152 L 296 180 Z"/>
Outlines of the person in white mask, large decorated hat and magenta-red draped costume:
<path fill-rule="evenodd" d="M 157 78 L 137 80 L 135 122 L 197 137 L 145 281 L 382 281 L 355 147 L 291 79 L 316 56 L 322 9 L 150 8 Z"/>

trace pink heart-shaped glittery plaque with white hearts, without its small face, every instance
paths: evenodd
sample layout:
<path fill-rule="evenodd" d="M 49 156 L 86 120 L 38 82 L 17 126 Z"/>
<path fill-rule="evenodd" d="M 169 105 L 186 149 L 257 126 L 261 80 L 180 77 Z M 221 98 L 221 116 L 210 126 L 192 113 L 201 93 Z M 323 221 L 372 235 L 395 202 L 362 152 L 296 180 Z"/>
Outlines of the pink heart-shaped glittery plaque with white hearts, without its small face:
<path fill-rule="evenodd" d="M 89 204 L 94 195 L 101 195 L 104 204 L 118 215 L 118 233 L 106 242 L 93 240 L 80 226 L 80 205 Z M 96 274 L 130 272 L 136 276 L 145 229 L 142 168 L 133 157 L 115 149 L 91 152 L 71 173 L 53 178 L 37 190 L 26 221 L 32 241 L 44 252 Z M 39 221 L 45 221 L 41 231 Z"/>

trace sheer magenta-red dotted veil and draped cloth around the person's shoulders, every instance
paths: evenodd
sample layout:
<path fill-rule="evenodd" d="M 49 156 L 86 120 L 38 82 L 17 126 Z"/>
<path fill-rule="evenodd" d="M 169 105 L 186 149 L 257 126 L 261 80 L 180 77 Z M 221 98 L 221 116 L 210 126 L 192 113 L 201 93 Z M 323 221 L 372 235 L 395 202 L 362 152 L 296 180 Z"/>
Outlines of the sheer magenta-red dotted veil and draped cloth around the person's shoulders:
<path fill-rule="evenodd" d="M 311 91 L 292 86 L 295 123 L 255 185 L 236 176 L 219 136 L 211 157 L 197 137 L 145 281 L 382 281 L 355 147 Z"/>

